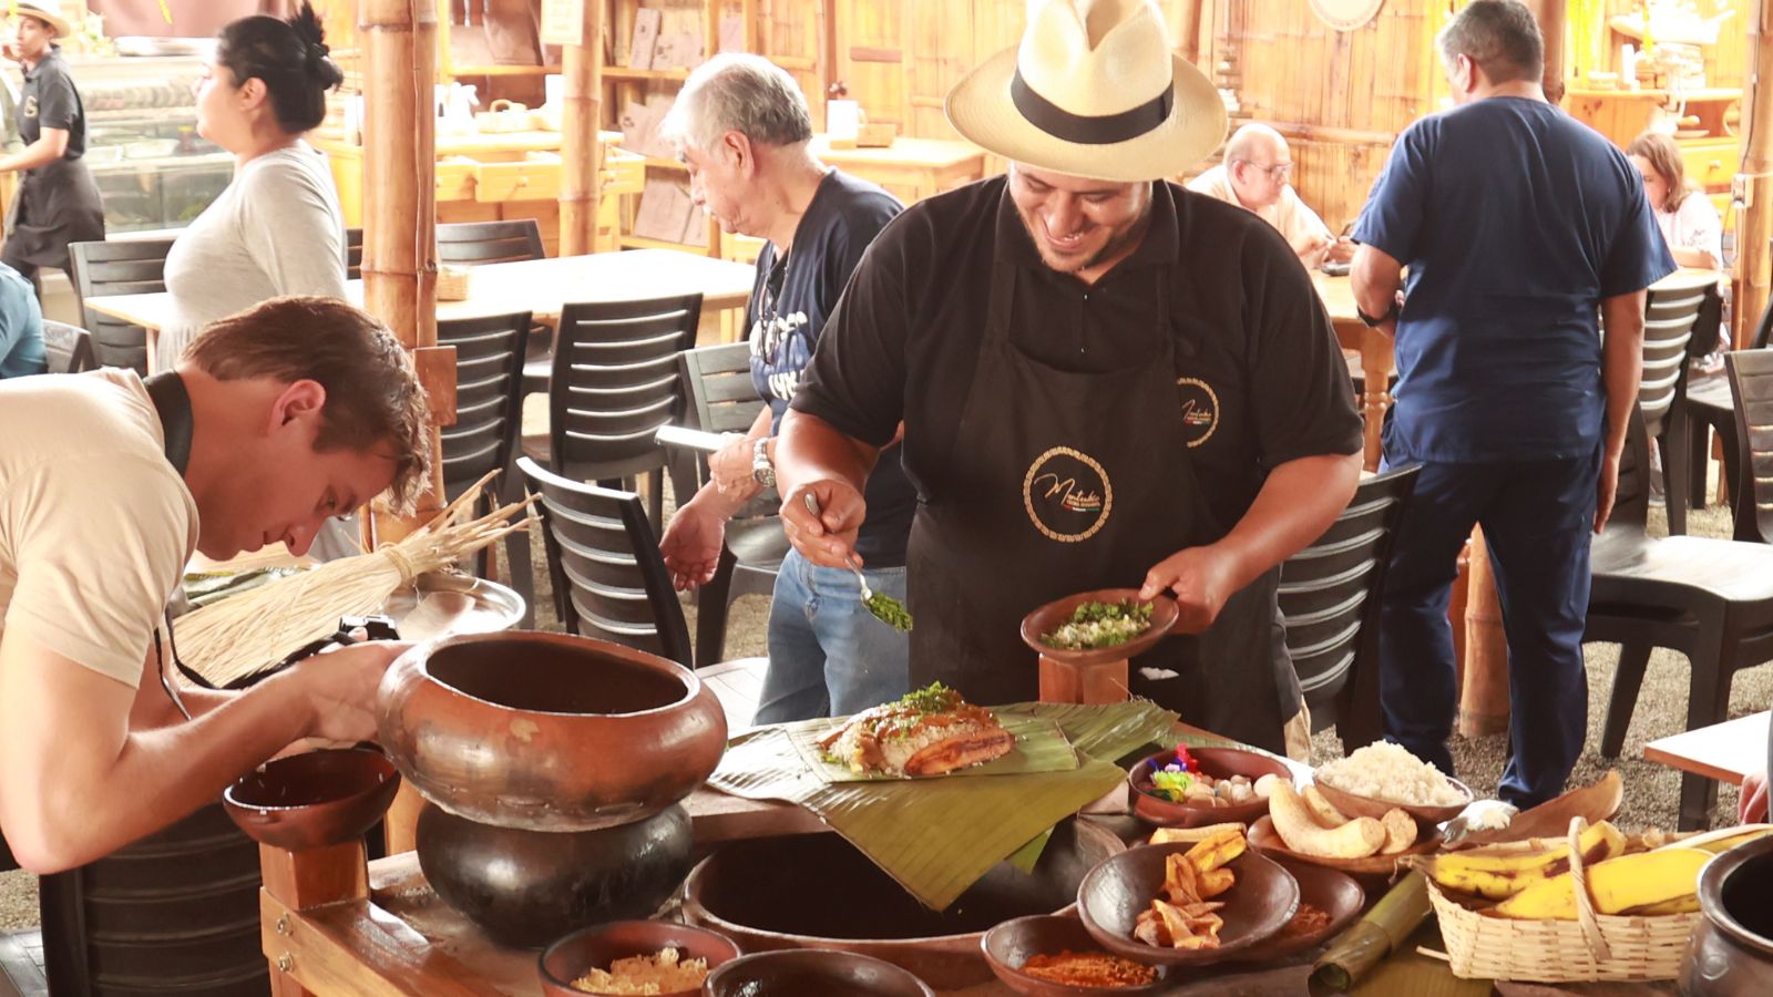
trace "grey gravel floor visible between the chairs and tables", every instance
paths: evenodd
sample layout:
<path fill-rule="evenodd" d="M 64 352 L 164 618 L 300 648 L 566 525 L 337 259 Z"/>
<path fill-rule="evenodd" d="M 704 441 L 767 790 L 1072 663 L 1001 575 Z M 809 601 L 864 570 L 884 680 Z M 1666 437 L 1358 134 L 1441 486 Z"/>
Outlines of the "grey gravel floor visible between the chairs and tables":
<path fill-rule="evenodd" d="M 667 509 L 672 507 L 667 491 Z M 1651 511 L 1651 532 L 1665 534 L 1667 520 L 1661 511 Z M 1711 507 L 1688 516 L 1688 532 L 1693 536 L 1730 536 L 1729 516 Z M 534 541 L 534 562 L 544 564 L 541 538 Z M 537 628 L 558 630 L 546 571 L 537 573 Z M 727 624 L 727 656 L 745 658 L 764 655 L 764 623 L 769 612 L 769 600 L 764 596 L 746 596 L 732 605 Z M 690 633 L 695 633 L 695 601 L 684 598 L 684 614 L 690 617 Z M 1672 768 L 1644 761 L 1644 743 L 1654 738 L 1679 733 L 1686 727 L 1686 660 L 1672 651 L 1651 655 L 1649 674 L 1644 678 L 1644 690 L 1638 695 L 1638 708 L 1626 733 L 1626 747 L 1617 759 L 1605 759 L 1596 750 L 1601 740 L 1601 717 L 1606 710 L 1606 695 L 1613 681 L 1613 667 L 1619 662 L 1619 648 L 1612 644 L 1590 644 L 1589 663 L 1589 749 L 1576 763 L 1571 784 L 1587 784 L 1599 779 L 1608 768 L 1619 768 L 1626 781 L 1626 802 L 1617 823 L 1624 828 L 1663 827 L 1674 828 L 1679 805 L 1681 775 Z M 1773 665 L 1761 665 L 1736 674 L 1730 687 L 1730 717 L 1743 717 L 1757 710 L 1766 710 L 1773 703 Z M 1340 758 L 1342 745 L 1335 738 L 1335 729 L 1317 734 L 1312 742 L 1314 763 Z M 1502 777 L 1507 756 L 1507 736 L 1495 734 L 1484 738 L 1452 740 L 1452 756 L 1457 773 L 1479 795 L 1493 795 Z M 1734 820 L 1736 788 L 1725 786 L 1718 793 L 1718 823 Z M 0 873 L 0 930 L 30 928 L 37 924 L 37 883 L 27 873 Z"/>

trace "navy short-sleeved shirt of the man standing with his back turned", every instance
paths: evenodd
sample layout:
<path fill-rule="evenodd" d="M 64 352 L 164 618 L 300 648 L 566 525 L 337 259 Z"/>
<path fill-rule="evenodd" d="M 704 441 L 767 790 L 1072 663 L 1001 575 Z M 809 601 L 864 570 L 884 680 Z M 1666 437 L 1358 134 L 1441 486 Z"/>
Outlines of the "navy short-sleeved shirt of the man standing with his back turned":
<path fill-rule="evenodd" d="M 1527 98 L 1425 117 L 1397 138 L 1353 238 L 1410 268 L 1388 461 L 1594 452 L 1601 300 L 1674 271 L 1612 142 Z"/>

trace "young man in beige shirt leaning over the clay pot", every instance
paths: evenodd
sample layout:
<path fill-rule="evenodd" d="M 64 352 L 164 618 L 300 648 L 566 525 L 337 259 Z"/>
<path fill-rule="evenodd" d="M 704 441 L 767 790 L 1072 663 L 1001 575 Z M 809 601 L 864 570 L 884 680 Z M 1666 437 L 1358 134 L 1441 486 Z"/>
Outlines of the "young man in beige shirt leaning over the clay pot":
<path fill-rule="evenodd" d="M 277 298 L 213 323 L 147 381 L 0 383 L 0 832 L 23 867 L 99 859 L 305 738 L 374 736 L 401 644 L 309 658 L 246 692 L 174 699 L 163 678 L 167 598 L 193 550 L 303 553 L 328 518 L 424 486 L 424 390 L 379 321 Z"/>

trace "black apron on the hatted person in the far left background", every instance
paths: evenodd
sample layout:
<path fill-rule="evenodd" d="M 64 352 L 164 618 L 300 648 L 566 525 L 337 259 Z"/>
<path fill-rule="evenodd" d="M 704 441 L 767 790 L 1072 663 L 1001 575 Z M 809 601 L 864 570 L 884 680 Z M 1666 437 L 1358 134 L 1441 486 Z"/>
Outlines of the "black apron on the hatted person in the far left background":
<path fill-rule="evenodd" d="M 44 59 L 50 59 L 46 55 Z M 12 121 L 27 145 L 43 137 L 35 94 L 18 103 Z M 78 101 L 78 94 L 74 98 Z M 82 112 L 80 126 L 85 128 Z M 73 138 L 73 137 L 69 137 Z M 83 147 L 82 137 L 82 147 Z M 18 193 L 7 211 L 0 261 L 32 275 L 39 266 L 67 271 L 67 243 L 105 241 L 105 202 L 85 160 L 62 156 L 18 174 Z"/>

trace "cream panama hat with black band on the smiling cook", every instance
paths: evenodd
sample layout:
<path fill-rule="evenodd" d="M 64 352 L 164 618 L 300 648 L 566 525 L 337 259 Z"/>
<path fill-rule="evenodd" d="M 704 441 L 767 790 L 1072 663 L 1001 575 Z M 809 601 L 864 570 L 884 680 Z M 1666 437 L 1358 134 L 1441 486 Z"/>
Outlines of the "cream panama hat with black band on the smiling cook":
<path fill-rule="evenodd" d="M 1152 0 L 1034 0 L 1019 48 L 949 90 L 966 140 L 1035 169 L 1168 177 L 1225 140 L 1225 101 L 1177 57 Z"/>

